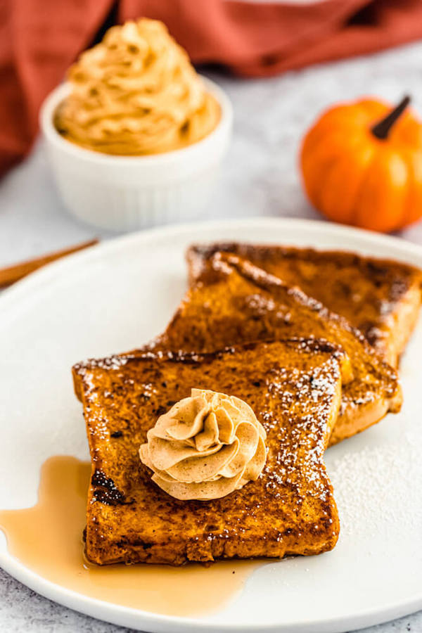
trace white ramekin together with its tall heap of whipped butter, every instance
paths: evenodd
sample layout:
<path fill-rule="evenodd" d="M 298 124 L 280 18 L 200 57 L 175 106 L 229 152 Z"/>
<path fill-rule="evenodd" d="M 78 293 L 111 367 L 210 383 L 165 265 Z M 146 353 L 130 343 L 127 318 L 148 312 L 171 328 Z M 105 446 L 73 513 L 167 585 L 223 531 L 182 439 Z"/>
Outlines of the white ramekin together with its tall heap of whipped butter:
<path fill-rule="evenodd" d="M 198 217 L 229 145 L 232 109 L 165 25 L 112 27 L 40 114 L 68 209 L 127 231 Z"/>

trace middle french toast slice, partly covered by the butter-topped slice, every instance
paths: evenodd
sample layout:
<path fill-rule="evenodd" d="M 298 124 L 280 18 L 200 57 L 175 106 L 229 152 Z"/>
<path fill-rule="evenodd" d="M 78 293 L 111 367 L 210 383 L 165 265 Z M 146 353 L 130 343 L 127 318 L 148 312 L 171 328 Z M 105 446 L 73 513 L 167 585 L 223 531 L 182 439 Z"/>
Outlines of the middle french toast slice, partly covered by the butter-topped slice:
<path fill-rule="evenodd" d="M 212 352 L 226 345 L 289 336 L 325 338 L 350 357 L 353 380 L 330 438 L 335 444 L 399 411 L 402 392 L 395 369 L 342 316 L 248 260 L 216 253 L 188 290 L 155 350 Z"/>

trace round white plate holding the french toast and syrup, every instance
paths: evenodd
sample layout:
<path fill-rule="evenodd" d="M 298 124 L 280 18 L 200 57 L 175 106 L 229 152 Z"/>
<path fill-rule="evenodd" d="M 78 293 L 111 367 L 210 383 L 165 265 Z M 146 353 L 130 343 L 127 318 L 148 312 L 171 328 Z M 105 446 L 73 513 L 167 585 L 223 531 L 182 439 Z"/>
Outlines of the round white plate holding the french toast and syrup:
<path fill-rule="evenodd" d="M 186 288 L 186 246 L 219 239 L 350 249 L 422 267 L 422 249 L 397 238 L 323 222 L 252 219 L 119 238 L 33 274 L 0 299 L 1 509 L 34 504 L 47 457 L 88 456 L 70 366 L 129 350 L 160 332 Z M 335 549 L 255 570 L 243 592 L 217 613 L 169 618 L 70 592 L 10 556 L 2 533 L 0 565 L 66 606 L 154 632 L 340 632 L 418 610 L 421 357 L 419 325 L 402 362 L 402 413 L 326 454 L 342 525 Z"/>

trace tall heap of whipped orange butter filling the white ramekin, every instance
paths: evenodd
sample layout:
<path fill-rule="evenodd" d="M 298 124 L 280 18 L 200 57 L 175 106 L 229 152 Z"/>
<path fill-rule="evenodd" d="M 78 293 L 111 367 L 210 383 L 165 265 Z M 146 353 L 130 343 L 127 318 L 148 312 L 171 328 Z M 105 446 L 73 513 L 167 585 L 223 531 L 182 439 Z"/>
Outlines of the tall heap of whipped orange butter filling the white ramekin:
<path fill-rule="evenodd" d="M 68 80 L 56 129 L 94 151 L 164 153 L 200 141 L 219 122 L 219 103 L 158 20 L 112 27 L 82 53 Z"/>

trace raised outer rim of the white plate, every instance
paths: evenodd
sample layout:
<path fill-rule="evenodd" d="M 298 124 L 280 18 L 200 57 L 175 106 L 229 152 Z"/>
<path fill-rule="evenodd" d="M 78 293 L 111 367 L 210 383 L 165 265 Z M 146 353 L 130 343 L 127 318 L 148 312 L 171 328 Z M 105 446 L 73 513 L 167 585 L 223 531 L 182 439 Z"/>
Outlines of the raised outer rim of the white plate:
<path fill-rule="evenodd" d="M 346 236 L 353 238 L 357 243 L 362 245 L 363 250 L 367 247 L 370 250 L 374 245 L 378 245 L 383 250 L 385 249 L 385 255 L 374 255 L 375 257 L 384 257 L 388 259 L 389 248 L 392 250 L 394 259 L 401 260 L 402 262 L 422 266 L 422 247 L 410 243 L 402 238 L 395 236 L 385 236 L 377 234 L 373 231 L 366 231 L 363 229 L 355 229 L 349 226 L 340 224 L 331 224 L 328 222 L 321 222 L 318 220 L 308 219 L 295 219 L 295 218 L 274 218 L 274 217 L 260 217 L 260 218 L 247 218 L 247 219 L 229 219 L 229 220 L 215 220 L 207 222 L 195 222 L 189 224 L 177 224 L 164 227 L 158 227 L 154 229 L 148 229 L 146 231 L 139 231 L 134 234 L 124 235 L 117 237 L 113 240 L 106 241 L 94 245 L 93 247 L 82 250 L 72 255 L 64 257 L 62 260 L 58 260 L 51 264 L 47 264 L 42 269 L 35 271 L 27 276 L 25 279 L 16 283 L 13 287 L 8 288 L 0 296 L 0 311 L 4 313 L 8 307 L 13 307 L 15 302 L 20 302 L 27 295 L 28 291 L 36 291 L 39 286 L 44 286 L 49 280 L 53 281 L 61 274 L 65 274 L 68 270 L 72 270 L 73 267 L 82 266 L 84 262 L 90 260 L 101 259 L 106 257 L 111 252 L 117 252 L 124 249 L 127 245 L 132 243 L 143 243 L 155 238 L 162 238 L 163 240 L 170 236 L 186 234 L 190 231 L 197 231 L 198 228 L 203 229 L 212 235 L 213 230 L 228 229 L 233 230 L 238 227 L 253 228 L 254 226 L 265 226 L 266 229 L 271 229 L 271 226 L 276 226 L 280 229 L 282 226 L 286 226 L 288 231 L 299 231 L 300 229 L 313 229 L 316 234 L 330 233 L 333 236 L 341 238 Z M 212 241 L 204 236 L 204 242 Z M 219 240 L 222 241 L 222 240 Z M 231 241 L 231 240 L 229 240 Z M 271 238 L 268 243 L 271 243 Z M 286 244 L 290 242 L 286 239 Z M 312 244 L 312 248 L 318 248 L 315 244 Z M 345 250 L 351 250 L 350 248 Z M 357 246 L 357 252 L 359 248 Z M 402 252 L 402 255 L 397 255 L 397 250 Z M 1 310 L 3 308 L 3 310 Z M 203 630 L 209 632 L 234 632 L 234 631 L 284 631 L 284 632 L 316 632 L 324 630 L 325 632 L 343 632 L 351 628 L 358 629 L 371 625 L 387 622 L 394 618 L 399 618 L 403 615 L 408 615 L 414 611 L 422 608 L 422 588 L 420 592 L 415 592 L 409 597 L 407 601 L 398 601 L 392 603 L 388 609 L 383 608 L 382 613 L 378 607 L 369 608 L 359 613 L 356 616 L 335 616 L 334 618 L 324 620 L 302 620 L 301 622 L 283 622 L 279 624 L 262 625 L 260 629 L 257 629 L 256 625 L 236 625 L 235 623 L 228 623 L 222 625 L 216 623 L 215 625 L 204 623 L 196 618 L 182 618 L 178 616 L 160 615 L 150 613 L 148 611 L 138 610 L 134 608 L 127 608 L 112 603 L 104 602 L 98 599 L 92 599 L 84 594 L 79 594 L 65 587 L 55 584 L 49 580 L 44 579 L 37 573 L 32 572 L 14 558 L 8 552 L 0 551 L 0 567 L 7 573 L 15 577 L 16 580 L 23 582 L 27 587 L 35 592 L 45 596 L 48 599 L 56 601 L 57 603 L 68 606 L 86 615 L 91 615 L 94 618 L 106 620 L 115 625 L 130 626 L 135 629 L 142 630 L 145 627 L 153 627 L 150 630 L 157 632 L 175 631 L 182 632 L 186 630 Z M 321 628 L 322 627 L 322 628 Z"/>

